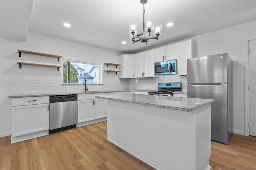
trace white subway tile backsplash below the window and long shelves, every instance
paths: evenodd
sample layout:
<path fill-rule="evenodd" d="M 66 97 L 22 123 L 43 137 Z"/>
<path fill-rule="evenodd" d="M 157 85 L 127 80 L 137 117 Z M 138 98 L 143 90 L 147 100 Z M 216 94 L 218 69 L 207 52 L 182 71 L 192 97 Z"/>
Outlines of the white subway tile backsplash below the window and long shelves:
<path fill-rule="evenodd" d="M 47 88 L 44 82 L 47 81 Z M 83 92 L 84 85 L 61 85 L 62 77 L 59 76 L 36 76 L 10 74 L 10 94 L 38 94 L 38 93 L 61 93 Z M 97 90 L 126 90 L 129 88 L 129 80 L 119 78 L 103 78 L 103 85 L 88 85 L 90 91 Z"/>

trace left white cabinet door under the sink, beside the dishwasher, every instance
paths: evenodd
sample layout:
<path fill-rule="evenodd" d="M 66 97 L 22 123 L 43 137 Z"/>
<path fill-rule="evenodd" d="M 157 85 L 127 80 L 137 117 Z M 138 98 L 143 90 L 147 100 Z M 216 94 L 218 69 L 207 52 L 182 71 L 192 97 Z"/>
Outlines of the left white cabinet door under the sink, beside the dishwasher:
<path fill-rule="evenodd" d="M 94 100 L 77 101 L 77 122 L 81 123 L 94 119 Z"/>

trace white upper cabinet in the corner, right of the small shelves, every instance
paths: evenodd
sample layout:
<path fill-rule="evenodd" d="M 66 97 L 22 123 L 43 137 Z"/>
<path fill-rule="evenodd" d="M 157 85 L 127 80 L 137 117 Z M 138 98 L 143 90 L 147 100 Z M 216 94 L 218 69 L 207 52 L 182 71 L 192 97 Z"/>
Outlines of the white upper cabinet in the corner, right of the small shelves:
<path fill-rule="evenodd" d="M 119 66 L 119 71 L 121 71 L 118 74 L 119 78 L 133 78 L 134 77 L 133 55 L 120 55 L 118 57 L 118 63 L 121 64 L 121 66 Z"/>

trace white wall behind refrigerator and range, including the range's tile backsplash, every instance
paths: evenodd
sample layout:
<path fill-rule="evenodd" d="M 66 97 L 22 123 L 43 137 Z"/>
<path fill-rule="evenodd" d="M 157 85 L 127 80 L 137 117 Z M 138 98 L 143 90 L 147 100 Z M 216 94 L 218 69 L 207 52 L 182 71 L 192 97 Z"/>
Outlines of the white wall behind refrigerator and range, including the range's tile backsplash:
<path fill-rule="evenodd" d="M 192 37 L 196 41 L 196 57 L 228 53 L 233 60 L 233 132 L 244 135 L 244 57 L 245 39 L 256 36 L 256 20 Z M 186 76 L 164 75 L 160 78 L 130 79 L 134 89 L 156 90 L 158 82 L 182 82 L 186 91 Z M 254 87 L 256 88 L 256 87 Z"/>

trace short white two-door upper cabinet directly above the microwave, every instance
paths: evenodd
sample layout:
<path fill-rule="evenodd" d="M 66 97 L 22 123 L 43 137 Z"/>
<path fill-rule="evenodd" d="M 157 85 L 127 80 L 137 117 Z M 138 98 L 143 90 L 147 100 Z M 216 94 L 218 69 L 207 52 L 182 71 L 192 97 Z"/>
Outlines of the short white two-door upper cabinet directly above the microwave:
<path fill-rule="evenodd" d="M 155 49 L 155 63 L 177 59 L 177 44 Z"/>

